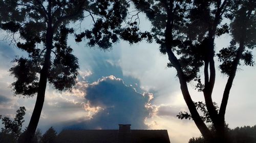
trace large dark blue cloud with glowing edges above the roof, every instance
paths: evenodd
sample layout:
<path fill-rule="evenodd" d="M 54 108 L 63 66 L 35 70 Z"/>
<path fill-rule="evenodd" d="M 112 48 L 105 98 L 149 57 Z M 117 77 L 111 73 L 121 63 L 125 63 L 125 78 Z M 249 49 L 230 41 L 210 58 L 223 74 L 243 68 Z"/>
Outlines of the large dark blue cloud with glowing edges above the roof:
<path fill-rule="evenodd" d="M 114 76 L 104 77 L 80 90 L 86 93 L 85 109 L 97 109 L 96 113 L 90 120 L 67 128 L 115 129 L 118 124 L 132 124 L 134 129 L 148 128 L 144 120 L 150 110 L 145 105 L 153 98 L 152 94 L 139 94 Z"/>

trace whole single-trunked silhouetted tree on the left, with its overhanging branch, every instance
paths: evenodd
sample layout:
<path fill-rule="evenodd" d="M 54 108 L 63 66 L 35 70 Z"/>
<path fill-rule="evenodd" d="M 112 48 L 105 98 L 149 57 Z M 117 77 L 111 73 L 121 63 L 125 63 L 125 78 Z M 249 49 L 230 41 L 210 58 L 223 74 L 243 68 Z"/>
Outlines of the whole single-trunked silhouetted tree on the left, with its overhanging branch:
<path fill-rule="evenodd" d="M 30 97 L 37 94 L 31 120 L 19 142 L 31 142 L 33 138 L 44 105 L 47 82 L 58 91 L 70 90 L 76 84 L 79 66 L 67 44 L 68 34 L 74 33 L 69 23 L 91 17 L 93 27 L 88 27 L 76 40 L 87 37 L 89 45 L 106 49 L 117 42 L 116 28 L 126 17 L 126 5 L 125 1 L 114 0 L 0 1 L 0 27 L 13 37 L 12 42 L 19 49 L 28 53 L 27 57 L 14 59 L 15 65 L 10 72 L 16 80 L 11 87 L 15 95 Z"/>

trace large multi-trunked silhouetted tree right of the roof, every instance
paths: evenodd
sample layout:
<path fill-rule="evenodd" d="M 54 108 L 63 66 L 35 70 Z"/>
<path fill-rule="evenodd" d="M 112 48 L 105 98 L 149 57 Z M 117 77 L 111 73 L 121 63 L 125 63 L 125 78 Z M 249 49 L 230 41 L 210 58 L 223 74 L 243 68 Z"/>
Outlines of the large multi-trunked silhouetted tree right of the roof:
<path fill-rule="evenodd" d="M 225 132 L 225 111 L 229 92 L 237 67 L 253 65 L 250 49 L 255 47 L 255 1 L 176 1 L 132 0 L 138 12 L 146 14 L 152 24 L 151 35 L 160 45 L 160 52 L 168 55 L 168 67 L 174 67 L 180 82 L 183 98 L 191 118 L 207 142 L 228 142 Z M 227 23 L 222 20 L 226 18 Z M 130 43 L 152 38 L 139 32 L 136 21 L 133 28 L 125 28 L 120 37 Z M 230 46 L 216 54 L 215 39 L 230 33 Z M 212 101 L 215 86 L 215 57 L 220 70 L 228 80 L 223 92 L 220 109 Z M 200 75 L 200 70 L 203 75 Z M 201 77 L 204 77 L 201 79 Z M 196 88 L 203 92 L 208 117 L 216 129 L 216 137 L 198 112 L 187 83 L 196 80 Z M 201 81 L 202 80 L 202 81 Z"/>

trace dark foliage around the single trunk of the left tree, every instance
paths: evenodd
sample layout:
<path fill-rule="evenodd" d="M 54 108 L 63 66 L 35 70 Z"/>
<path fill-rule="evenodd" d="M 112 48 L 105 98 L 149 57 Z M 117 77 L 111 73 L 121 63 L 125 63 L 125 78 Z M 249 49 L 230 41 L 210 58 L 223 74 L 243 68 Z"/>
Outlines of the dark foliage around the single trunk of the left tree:
<path fill-rule="evenodd" d="M 53 28 L 53 46 L 50 50 L 55 56 L 50 61 L 48 81 L 59 91 L 70 90 L 76 84 L 79 66 L 72 48 L 67 44 L 68 35 L 74 33 L 68 23 L 82 20 L 85 10 L 94 9 L 96 14 L 102 14 L 102 11 L 97 12 L 96 9 L 103 3 L 104 1 L 87 0 L 0 1 L 0 28 L 13 35 L 18 33 L 16 45 L 28 53 L 28 56 L 16 57 L 13 60 L 14 66 L 10 69 L 16 79 L 11 84 L 15 95 L 33 96 L 37 92 L 49 27 Z M 113 6 L 109 17 L 120 12 L 115 11 L 117 6 Z"/>

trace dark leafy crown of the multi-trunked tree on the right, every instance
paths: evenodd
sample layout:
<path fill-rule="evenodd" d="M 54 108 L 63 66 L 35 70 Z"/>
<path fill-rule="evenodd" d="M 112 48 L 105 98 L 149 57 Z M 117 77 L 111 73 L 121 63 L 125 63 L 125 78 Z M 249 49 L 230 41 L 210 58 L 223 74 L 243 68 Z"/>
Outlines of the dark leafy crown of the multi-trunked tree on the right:
<path fill-rule="evenodd" d="M 151 21 L 150 34 L 160 45 L 160 52 L 165 54 L 166 49 L 171 48 L 177 53 L 187 82 L 199 76 L 200 68 L 209 58 L 208 49 L 212 38 L 223 34 L 230 34 L 233 40 L 229 47 L 223 48 L 219 53 L 215 54 L 213 51 L 221 62 L 221 72 L 230 74 L 232 63 L 237 56 L 237 43 L 241 42 L 241 38 L 245 42 L 245 48 L 248 48 L 243 52 L 241 60 L 244 61 L 244 65 L 253 66 L 253 55 L 250 49 L 255 47 L 256 5 L 254 1 L 227 1 L 223 16 L 219 17 L 220 20 L 216 20 L 218 7 L 220 7 L 219 1 L 134 0 L 133 3 L 136 9 L 144 12 Z M 172 15 L 169 15 L 172 20 L 171 32 L 166 31 L 168 12 L 172 12 Z M 224 17 L 230 22 L 222 24 Z M 126 41 L 130 39 L 130 43 L 139 42 L 140 37 L 137 31 L 139 31 L 137 26 L 133 25 L 133 28 L 125 31 L 125 35 L 128 36 L 123 39 Z M 168 41 L 169 45 L 166 45 L 168 36 L 173 40 Z M 173 66 L 167 63 L 167 67 Z"/>

